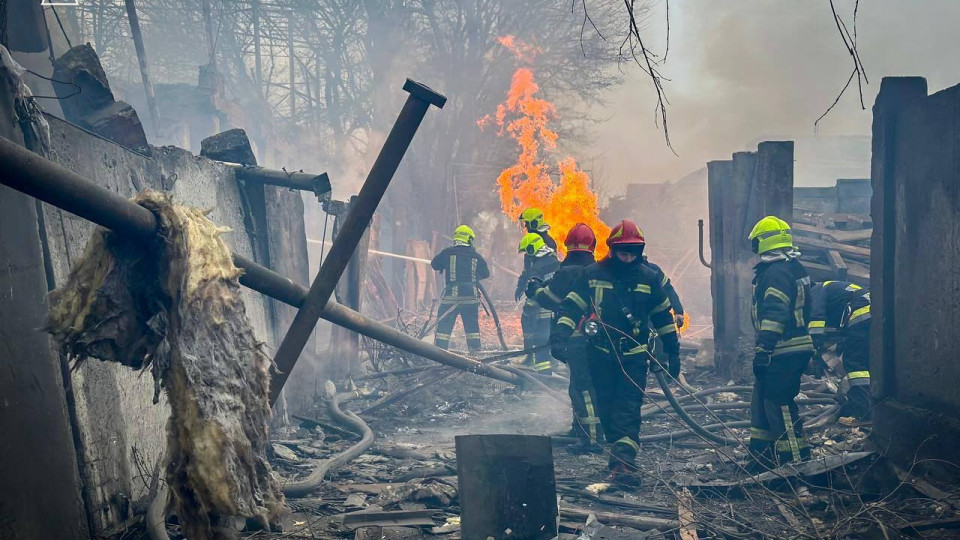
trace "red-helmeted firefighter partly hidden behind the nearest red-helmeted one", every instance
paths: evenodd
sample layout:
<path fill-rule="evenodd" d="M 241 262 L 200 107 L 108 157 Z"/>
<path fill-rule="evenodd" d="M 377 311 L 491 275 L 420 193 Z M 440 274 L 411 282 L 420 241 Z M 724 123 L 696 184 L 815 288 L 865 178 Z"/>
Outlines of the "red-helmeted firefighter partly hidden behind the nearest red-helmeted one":
<path fill-rule="evenodd" d="M 531 280 L 527 287 L 528 297 L 536 300 L 541 307 L 553 311 L 554 323 L 559 318 L 560 303 L 583 275 L 584 269 L 596 262 L 593 253 L 597 247 L 597 237 L 589 226 L 577 223 L 567 233 L 563 245 L 567 248 L 567 256 L 553 277 L 542 284 Z M 586 336 L 579 329 L 575 330 L 565 343 L 551 348 L 551 354 L 570 369 L 567 391 L 573 406 L 571 435 L 579 439 L 580 449 L 590 449 L 591 445 L 602 441 L 603 428 L 597 414 L 597 394 L 587 362 Z"/>

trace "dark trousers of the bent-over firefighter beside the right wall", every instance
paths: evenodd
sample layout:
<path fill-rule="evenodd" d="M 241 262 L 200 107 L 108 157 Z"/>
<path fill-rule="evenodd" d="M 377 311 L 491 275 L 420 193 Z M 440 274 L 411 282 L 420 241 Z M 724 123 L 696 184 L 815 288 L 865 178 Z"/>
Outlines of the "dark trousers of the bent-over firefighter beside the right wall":
<path fill-rule="evenodd" d="M 870 321 L 865 320 L 844 327 L 838 349 L 847 372 L 841 383 L 846 402 L 841 416 L 860 420 L 870 418 Z"/>

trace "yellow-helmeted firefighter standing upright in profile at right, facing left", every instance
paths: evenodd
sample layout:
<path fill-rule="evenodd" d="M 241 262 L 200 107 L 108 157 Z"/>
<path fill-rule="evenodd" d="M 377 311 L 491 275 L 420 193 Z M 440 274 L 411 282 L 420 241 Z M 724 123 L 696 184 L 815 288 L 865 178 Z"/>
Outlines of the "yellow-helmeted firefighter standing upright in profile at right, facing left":
<path fill-rule="evenodd" d="M 756 378 L 750 403 L 750 454 L 753 471 L 810 457 L 795 398 L 800 376 L 813 357 L 810 276 L 800 265 L 790 225 L 767 216 L 748 239 L 760 257 L 754 267 L 753 321 Z"/>

